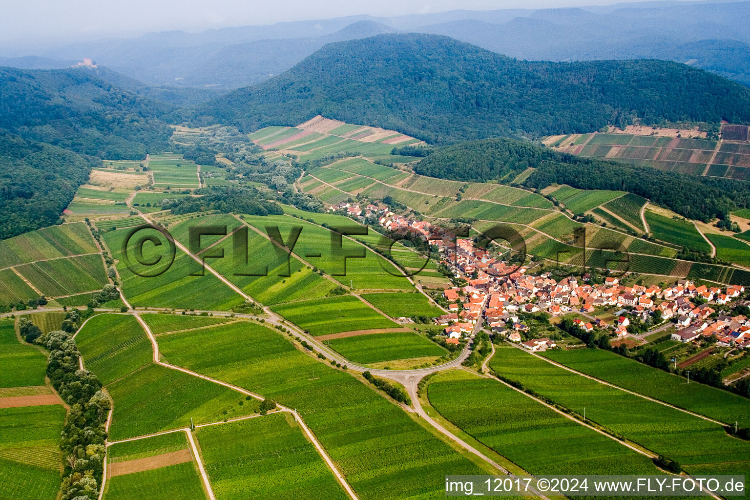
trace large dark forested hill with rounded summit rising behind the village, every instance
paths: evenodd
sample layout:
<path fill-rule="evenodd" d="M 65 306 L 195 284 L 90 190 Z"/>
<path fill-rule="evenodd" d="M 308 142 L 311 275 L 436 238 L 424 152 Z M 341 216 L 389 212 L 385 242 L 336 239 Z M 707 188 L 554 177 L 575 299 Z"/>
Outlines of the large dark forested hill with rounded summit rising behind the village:
<path fill-rule="evenodd" d="M 251 131 L 314 115 L 452 142 L 663 119 L 750 121 L 750 88 L 669 61 L 517 61 L 449 37 L 330 43 L 292 69 L 198 106 L 196 123 Z"/>

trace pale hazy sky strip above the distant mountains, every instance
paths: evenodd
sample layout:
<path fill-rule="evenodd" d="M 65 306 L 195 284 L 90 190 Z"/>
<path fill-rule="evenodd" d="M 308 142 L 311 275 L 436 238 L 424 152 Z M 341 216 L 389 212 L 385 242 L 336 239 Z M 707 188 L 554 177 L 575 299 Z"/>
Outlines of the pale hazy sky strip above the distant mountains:
<path fill-rule="evenodd" d="M 355 14 L 398 16 L 445 10 L 569 7 L 628 0 L 0 0 L 0 43 L 128 37 L 148 31 L 329 19 Z M 629 0 L 634 1 L 634 0 Z"/>

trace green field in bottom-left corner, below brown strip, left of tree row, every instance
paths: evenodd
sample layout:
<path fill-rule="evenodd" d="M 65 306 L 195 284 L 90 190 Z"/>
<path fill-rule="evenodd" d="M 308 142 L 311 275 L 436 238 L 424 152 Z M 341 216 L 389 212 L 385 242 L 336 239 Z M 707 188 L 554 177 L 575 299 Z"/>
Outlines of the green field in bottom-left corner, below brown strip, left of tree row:
<path fill-rule="evenodd" d="M 62 460 L 62 405 L 0 409 L 0 496 L 54 500 Z"/>

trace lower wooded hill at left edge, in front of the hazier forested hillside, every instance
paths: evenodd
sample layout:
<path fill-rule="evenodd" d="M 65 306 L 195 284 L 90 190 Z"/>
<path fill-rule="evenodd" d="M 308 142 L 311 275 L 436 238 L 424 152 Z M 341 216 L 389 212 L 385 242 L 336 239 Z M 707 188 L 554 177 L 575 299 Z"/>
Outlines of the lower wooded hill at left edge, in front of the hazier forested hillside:
<path fill-rule="evenodd" d="M 57 223 L 89 172 L 72 151 L 0 133 L 0 239 Z"/>

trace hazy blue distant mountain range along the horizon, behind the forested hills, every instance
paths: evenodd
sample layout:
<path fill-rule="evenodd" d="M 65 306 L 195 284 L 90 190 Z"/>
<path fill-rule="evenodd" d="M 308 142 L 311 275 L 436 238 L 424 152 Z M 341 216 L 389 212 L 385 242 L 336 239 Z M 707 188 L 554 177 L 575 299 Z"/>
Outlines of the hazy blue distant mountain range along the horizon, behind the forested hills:
<path fill-rule="evenodd" d="M 330 42 L 374 34 L 443 34 L 535 61 L 661 58 L 750 85 L 750 1 L 646 1 L 563 9 L 452 10 L 379 18 L 349 16 L 55 46 L 36 58 L 0 58 L 27 69 L 94 58 L 151 87 L 227 90 L 283 73 Z"/>

